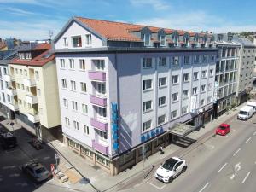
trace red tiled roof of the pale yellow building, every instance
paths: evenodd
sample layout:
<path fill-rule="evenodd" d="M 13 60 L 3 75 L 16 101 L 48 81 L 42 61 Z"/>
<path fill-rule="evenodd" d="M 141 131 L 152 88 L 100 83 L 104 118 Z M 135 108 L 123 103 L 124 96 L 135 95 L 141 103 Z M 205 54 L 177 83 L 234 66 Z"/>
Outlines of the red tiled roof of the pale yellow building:
<path fill-rule="evenodd" d="M 32 60 L 20 60 L 19 58 L 15 58 L 12 61 L 10 61 L 10 64 L 42 67 L 45 64 L 47 64 L 49 61 L 52 61 L 55 59 L 55 54 L 50 53 L 50 49 L 51 49 L 50 44 L 38 44 L 38 46 L 34 50 L 39 50 L 39 49 L 45 49 L 45 51 L 42 54 L 33 58 Z"/>

